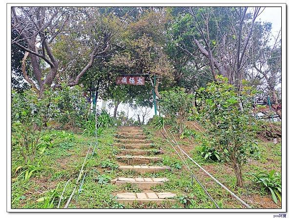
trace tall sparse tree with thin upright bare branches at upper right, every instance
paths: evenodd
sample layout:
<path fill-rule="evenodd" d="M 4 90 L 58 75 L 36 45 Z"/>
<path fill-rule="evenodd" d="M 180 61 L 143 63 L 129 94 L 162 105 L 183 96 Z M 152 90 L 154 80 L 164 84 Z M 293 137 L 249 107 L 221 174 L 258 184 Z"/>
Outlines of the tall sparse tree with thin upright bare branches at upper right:
<path fill-rule="evenodd" d="M 248 13 L 248 10 L 253 13 Z M 248 7 L 189 7 L 198 34 L 193 36 L 198 50 L 209 60 L 213 78 L 222 74 L 231 84 L 242 88 L 247 46 L 255 19 L 261 8 Z"/>

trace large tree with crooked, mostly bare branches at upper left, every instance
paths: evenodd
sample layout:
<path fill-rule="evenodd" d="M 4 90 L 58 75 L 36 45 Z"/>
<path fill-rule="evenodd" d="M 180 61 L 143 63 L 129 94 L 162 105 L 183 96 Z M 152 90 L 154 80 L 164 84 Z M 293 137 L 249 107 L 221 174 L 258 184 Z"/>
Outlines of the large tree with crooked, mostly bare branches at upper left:
<path fill-rule="evenodd" d="M 103 57 L 110 48 L 110 40 L 118 31 L 109 28 L 112 18 L 115 18 L 113 13 L 103 17 L 98 8 L 13 7 L 12 30 L 16 31 L 18 36 L 12 39 L 12 43 L 26 51 L 23 63 L 26 58 L 30 58 L 36 82 L 26 73 L 24 78 L 40 95 L 46 87 L 54 84 L 60 61 L 53 52 L 52 45 L 60 41 L 57 37 L 64 37 L 73 40 L 67 46 L 70 47 L 72 43 L 79 41 L 78 50 L 85 50 L 84 53 L 87 53 L 84 61 L 86 64 L 82 65 L 78 73 L 70 75 L 67 81 L 68 86 L 77 85 L 84 73 L 92 67 L 94 60 Z M 104 25 L 105 23 L 109 25 Z M 123 21 L 120 26 L 122 23 Z M 21 42 L 24 42 L 25 46 Z M 69 51 L 67 52 L 70 54 Z M 79 53 L 82 52 L 79 51 L 74 56 L 79 57 Z M 67 60 L 70 67 L 75 62 L 76 58 Z"/>

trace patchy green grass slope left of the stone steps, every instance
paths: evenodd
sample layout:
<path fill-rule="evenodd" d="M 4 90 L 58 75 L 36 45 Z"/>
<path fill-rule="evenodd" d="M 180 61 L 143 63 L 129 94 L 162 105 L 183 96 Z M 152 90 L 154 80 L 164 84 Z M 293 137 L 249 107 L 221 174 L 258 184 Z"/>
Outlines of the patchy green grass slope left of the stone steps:
<path fill-rule="evenodd" d="M 112 146 L 114 133 L 115 128 L 108 128 L 104 130 L 102 137 L 98 139 L 99 145 L 96 152 L 91 159 L 87 160 L 86 170 L 88 172 L 83 189 L 78 196 L 77 194 L 73 196 L 72 203 L 68 207 L 99 208 L 111 207 L 114 204 L 115 197 L 112 197 L 111 193 L 115 191 L 116 186 L 110 184 L 109 180 L 106 184 L 98 183 L 99 176 L 107 176 L 108 179 L 116 176 L 115 171 L 111 171 L 112 168 L 117 166 L 114 156 L 118 148 Z M 64 140 L 47 148 L 43 154 L 39 154 L 36 157 L 35 161 L 40 162 L 42 166 L 45 164 L 45 166 L 50 166 L 51 168 L 42 168 L 41 171 L 34 172 L 29 181 L 17 178 L 18 172 L 15 173 L 15 170 L 18 166 L 24 165 L 24 161 L 17 153 L 17 150 L 13 150 L 12 207 L 49 207 L 44 205 L 44 201 L 38 202 L 37 200 L 50 196 L 57 188 L 57 198 L 55 198 L 52 205 L 53 208 L 56 208 L 63 187 L 67 180 L 71 178 L 72 180 L 68 183 L 64 192 L 64 198 L 61 201 L 61 206 L 63 207 L 75 186 L 75 181 L 84 162 L 88 147 L 93 146 L 94 143 L 95 139 L 93 137 L 74 134 L 74 140 Z M 105 164 L 105 161 L 110 162 L 102 165 L 103 162 Z"/>

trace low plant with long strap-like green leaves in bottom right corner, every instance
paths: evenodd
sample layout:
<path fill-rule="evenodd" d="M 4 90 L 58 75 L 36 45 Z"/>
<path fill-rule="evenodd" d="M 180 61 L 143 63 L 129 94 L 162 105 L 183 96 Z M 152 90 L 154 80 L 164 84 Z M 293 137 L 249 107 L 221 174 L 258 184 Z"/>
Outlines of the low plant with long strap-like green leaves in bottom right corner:
<path fill-rule="evenodd" d="M 278 199 L 281 201 L 282 185 L 281 175 L 275 170 L 271 170 L 269 173 L 248 173 L 251 177 L 248 177 L 254 183 L 260 184 L 262 188 L 270 190 L 272 194 L 272 200 L 278 203 Z"/>

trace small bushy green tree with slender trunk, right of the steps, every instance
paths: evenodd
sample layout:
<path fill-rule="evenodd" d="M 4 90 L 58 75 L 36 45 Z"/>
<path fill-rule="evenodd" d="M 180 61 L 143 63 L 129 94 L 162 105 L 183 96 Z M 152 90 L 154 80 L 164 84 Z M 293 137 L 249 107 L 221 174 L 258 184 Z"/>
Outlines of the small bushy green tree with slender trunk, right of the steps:
<path fill-rule="evenodd" d="M 240 92 L 228 84 L 228 78 L 218 75 L 216 79 L 198 90 L 198 119 L 207 131 L 209 144 L 233 168 L 236 185 L 243 187 L 242 167 L 255 145 L 251 114 L 255 90 L 244 86 Z"/>

